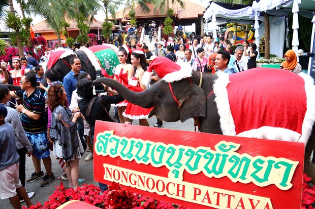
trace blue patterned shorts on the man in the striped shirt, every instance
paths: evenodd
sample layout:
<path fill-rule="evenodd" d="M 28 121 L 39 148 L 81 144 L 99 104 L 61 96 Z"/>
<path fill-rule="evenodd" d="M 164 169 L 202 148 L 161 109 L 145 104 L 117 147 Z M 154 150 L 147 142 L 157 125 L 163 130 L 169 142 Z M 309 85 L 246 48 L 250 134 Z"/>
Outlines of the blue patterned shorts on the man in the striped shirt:
<path fill-rule="evenodd" d="M 49 156 L 49 141 L 46 132 L 40 134 L 25 133 L 31 146 L 33 147 L 33 154 L 39 159 Z"/>

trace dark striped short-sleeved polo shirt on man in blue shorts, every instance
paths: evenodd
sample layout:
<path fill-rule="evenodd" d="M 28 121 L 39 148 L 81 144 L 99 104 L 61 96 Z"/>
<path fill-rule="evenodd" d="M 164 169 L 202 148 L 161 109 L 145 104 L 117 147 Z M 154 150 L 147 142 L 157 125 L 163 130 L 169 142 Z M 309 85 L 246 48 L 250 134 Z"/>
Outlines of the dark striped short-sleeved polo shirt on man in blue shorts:
<path fill-rule="evenodd" d="M 35 89 L 31 95 L 27 97 L 24 90 L 14 92 L 18 97 L 23 99 L 23 106 L 28 111 L 35 114 L 40 114 L 41 117 L 38 121 L 29 118 L 25 114 L 21 113 L 20 119 L 22 122 L 23 129 L 27 134 L 39 134 L 46 131 L 45 122 L 45 99 L 44 95 Z"/>

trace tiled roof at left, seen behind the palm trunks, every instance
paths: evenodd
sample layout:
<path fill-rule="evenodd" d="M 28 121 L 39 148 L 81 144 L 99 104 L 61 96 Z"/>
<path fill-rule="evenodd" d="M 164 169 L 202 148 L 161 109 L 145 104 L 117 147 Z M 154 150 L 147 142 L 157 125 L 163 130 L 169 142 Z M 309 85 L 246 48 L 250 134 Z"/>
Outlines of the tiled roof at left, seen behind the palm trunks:
<path fill-rule="evenodd" d="M 75 20 L 71 20 L 66 18 L 66 21 L 69 23 L 70 27 L 68 27 L 68 31 L 72 31 L 72 30 L 79 30 L 79 28 L 77 27 L 77 22 Z M 102 24 L 103 22 L 93 19 L 92 22 L 90 23 L 90 29 L 98 29 L 98 28 L 102 28 Z M 36 25 L 33 25 L 34 28 L 34 32 L 36 33 L 41 33 L 41 32 L 54 32 L 55 30 L 52 29 L 52 27 L 50 27 L 46 21 L 42 21 Z"/>

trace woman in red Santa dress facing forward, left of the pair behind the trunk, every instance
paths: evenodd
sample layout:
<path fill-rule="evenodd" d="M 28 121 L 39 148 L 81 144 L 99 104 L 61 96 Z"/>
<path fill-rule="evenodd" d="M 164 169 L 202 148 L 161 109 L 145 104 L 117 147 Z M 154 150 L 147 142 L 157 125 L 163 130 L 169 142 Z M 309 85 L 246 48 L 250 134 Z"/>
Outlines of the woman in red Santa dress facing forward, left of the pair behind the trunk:
<path fill-rule="evenodd" d="M 123 45 L 117 53 L 118 60 L 119 60 L 119 65 L 116 66 L 115 68 L 115 73 L 114 73 L 114 79 L 120 82 L 122 85 L 127 86 L 128 85 L 128 79 L 131 79 L 134 75 L 134 66 L 129 64 L 128 62 L 128 56 L 130 53 L 129 47 L 127 45 Z M 115 106 L 117 107 L 117 113 L 119 116 L 119 121 L 120 123 L 124 123 L 125 121 L 131 121 L 129 118 L 123 117 L 122 113 L 126 109 L 128 104 L 127 100 L 124 100 L 122 102 L 119 102 Z"/>

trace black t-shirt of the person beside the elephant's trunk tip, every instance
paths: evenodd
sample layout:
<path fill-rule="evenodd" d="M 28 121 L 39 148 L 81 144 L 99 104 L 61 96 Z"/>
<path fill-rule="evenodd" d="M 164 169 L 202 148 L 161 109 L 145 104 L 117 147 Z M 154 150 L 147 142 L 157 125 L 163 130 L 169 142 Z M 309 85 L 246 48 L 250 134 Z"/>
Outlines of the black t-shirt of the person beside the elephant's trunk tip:
<path fill-rule="evenodd" d="M 97 96 L 93 96 L 93 97 L 97 97 Z M 103 107 L 106 107 L 108 104 L 117 104 L 124 100 L 121 95 L 114 95 L 114 96 L 102 95 L 99 98 L 100 99 L 96 99 L 94 101 L 92 110 L 88 118 L 86 117 L 85 113 L 86 113 L 86 110 L 87 110 L 87 107 L 91 98 L 83 98 L 79 100 L 80 112 L 87 119 L 87 122 L 90 126 L 91 133 L 94 133 L 96 120 L 111 121 L 110 116 L 105 112 Z M 100 101 L 102 102 L 103 107 L 100 104 Z"/>

